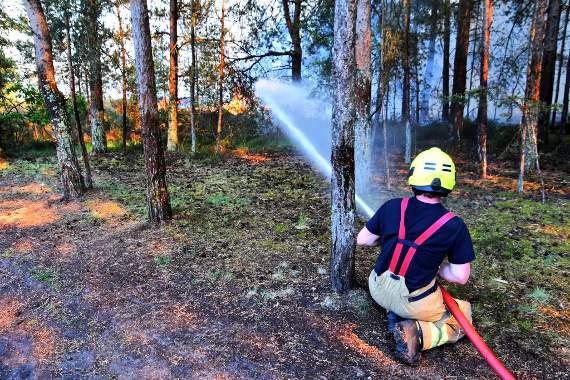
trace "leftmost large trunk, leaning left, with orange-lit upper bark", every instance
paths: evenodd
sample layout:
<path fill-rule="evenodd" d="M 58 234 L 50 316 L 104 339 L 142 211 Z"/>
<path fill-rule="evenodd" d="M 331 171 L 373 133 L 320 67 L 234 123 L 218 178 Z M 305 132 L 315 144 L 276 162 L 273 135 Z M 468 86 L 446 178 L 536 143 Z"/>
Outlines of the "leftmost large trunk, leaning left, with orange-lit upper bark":
<path fill-rule="evenodd" d="M 46 103 L 56 140 L 63 196 L 64 199 L 77 197 L 85 192 L 85 185 L 71 141 L 71 123 L 67 114 L 67 105 L 55 80 L 48 24 L 39 0 L 23 0 L 22 3 L 26 8 L 30 28 L 34 35 L 38 84 Z"/>

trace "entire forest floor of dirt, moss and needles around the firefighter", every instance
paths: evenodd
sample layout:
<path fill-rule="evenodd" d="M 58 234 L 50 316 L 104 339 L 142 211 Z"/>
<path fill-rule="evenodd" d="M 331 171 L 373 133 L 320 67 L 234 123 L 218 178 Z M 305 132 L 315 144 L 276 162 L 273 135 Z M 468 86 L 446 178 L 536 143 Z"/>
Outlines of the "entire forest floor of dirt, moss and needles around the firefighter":
<path fill-rule="evenodd" d="M 138 154 L 95 157 L 96 189 L 69 203 L 53 158 L 0 162 L 0 378 L 493 378 L 466 339 L 395 361 L 366 290 L 374 249 L 358 249 L 357 289 L 330 292 L 328 184 L 299 157 L 167 162 L 161 228 Z M 516 197 L 513 170 L 459 170 L 446 203 L 478 257 L 450 290 L 517 377 L 568 378 L 568 173 L 547 171 L 543 205 Z M 383 197 L 405 194 L 405 173 Z"/>

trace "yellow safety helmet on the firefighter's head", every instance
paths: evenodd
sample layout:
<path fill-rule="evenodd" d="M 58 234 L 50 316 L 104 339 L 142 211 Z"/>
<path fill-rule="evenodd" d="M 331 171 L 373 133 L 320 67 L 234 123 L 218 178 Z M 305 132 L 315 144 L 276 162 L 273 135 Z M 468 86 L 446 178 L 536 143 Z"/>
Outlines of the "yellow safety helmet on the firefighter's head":
<path fill-rule="evenodd" d="M 455 187 L 455 164 L 439 148 L 424 150 L 412 161 L 408 185 L 414 192 L 430 192 L 446 196 Z"/>

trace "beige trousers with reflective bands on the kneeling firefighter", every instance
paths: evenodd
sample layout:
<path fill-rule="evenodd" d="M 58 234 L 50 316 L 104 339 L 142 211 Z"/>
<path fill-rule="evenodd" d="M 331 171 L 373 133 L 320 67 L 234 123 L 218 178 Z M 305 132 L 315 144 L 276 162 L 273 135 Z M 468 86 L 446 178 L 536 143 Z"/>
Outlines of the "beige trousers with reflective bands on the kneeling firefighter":
<path fill-rule="evenodd" d="M 431 289 L 434 284 L 435 279 L 425 287 L 410 293 L 404 277 L 394 276 L 390 271 L 378 276 L 376 271 L 372 270 L 368 278 L 370 295 L 376 303 L 402 318 L 418 321 L 422 330 L 423 350 L 448 342 L 455 343 L 465 335 L 455 318 L 445 308 L 439 287 L 422 299 L 410 302 L 410 298 Z M 471 321 L 471 304 L 462 300 L 456 299 L 456 301 L 463 314 Z"/>

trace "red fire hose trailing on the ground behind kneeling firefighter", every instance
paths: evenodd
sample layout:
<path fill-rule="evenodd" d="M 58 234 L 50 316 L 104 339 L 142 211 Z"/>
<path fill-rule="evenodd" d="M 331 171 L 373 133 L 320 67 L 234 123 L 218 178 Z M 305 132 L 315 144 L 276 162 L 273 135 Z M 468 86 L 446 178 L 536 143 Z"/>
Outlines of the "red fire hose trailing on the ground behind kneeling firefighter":
<path fill-rule="evenodd" d="M 515 377 L 509 370 L 504 366 L 504 364 L 497 359 L 493 351 L 487 346 L 481 335 L 477 333 L 473 325 L 469 322 L 469 320 L 465 317 L 457 302 L 451 297 L 451 294 L 440 285 L 441 294 L 443 295 L 443 302 L 447 305 L 447 308 L 451 312 L 451 314 L 455 317 L 461 328 L 465 331 L 465 335 L 467 338 L 473 343 L 477 351 L 483 356 L 483 358 L 489 363 L 491 368 L 495 371 L 497 376 L 502 380 L 514 380 Z"/>

